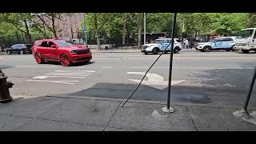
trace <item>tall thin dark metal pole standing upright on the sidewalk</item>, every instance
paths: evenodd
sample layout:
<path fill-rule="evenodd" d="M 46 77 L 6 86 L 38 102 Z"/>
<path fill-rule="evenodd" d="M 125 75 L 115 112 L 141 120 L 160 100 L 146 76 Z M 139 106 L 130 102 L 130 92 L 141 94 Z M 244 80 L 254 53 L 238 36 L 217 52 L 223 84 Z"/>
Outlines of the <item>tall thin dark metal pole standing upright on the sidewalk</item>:
<path fill-rule="evenodd" d="M 167 97 L 167 110 L 170 109 L 170 88 L 171 88 L 171 72 L 173 68 L 173 49 L 174 49 L 174 33 L 175 33 L 175 25 L 176 25 L 176 15 L 173 14 L 173 26 L 171 31 L 171 45 L 170 45 L 170 67 L 169 67 L 169 84 L 168 84 L 168 97 Z"/>

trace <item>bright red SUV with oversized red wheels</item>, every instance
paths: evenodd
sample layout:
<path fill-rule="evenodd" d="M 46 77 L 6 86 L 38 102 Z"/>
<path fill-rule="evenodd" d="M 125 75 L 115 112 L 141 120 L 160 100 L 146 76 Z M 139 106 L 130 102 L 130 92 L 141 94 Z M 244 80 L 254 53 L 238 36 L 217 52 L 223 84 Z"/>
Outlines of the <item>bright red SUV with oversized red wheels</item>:
<path fill-rule="evenodd" d="M 61 62 L 62 66 L 70 66 L 75 62 L 89 62 L 92 58 L 90 49 L 86 46 L 76 46 L 64 40 L 37 40 L 32 46 L 35 61 Z"/>

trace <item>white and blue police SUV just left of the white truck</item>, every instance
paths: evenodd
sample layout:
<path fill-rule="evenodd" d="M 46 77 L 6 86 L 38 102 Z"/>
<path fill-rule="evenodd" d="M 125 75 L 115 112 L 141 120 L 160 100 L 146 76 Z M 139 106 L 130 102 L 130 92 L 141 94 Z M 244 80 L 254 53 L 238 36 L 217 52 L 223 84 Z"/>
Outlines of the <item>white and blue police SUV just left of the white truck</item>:
<path fill-rule="evenodd" d="M 234 51 L 235 37 L 219 37 L 211 39 L 210 42 L 198 43 L 196 50 L 209 52 L 210 50 Z"/>

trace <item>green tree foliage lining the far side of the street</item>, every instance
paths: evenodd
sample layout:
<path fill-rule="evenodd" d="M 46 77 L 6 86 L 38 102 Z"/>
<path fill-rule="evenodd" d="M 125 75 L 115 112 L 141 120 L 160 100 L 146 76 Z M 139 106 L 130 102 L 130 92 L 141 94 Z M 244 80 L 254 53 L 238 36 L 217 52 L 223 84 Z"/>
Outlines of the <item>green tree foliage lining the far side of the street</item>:
<path fill-rule="evenodd" d="M 16 34 L 16 31 L 29 36 L 44 34 L 42 15 L 50 18 L 50 25 L 44 23 L 47 30 L 58 38 L 55 20 L 64 13 L 2 13 L 0 14 L 0 35 Z M 39 18 L 42 22 L 34 21 Z M 143 32 L 143 13 L 86 13 L 86 34 L 91 41 L 100 44 L 110 38 L 121 38 L 122 44 L 130 43 L 131 39 L 141 43 Z M 146 32 L 171 32 L 171 13 L 147 13 Z M 81 26 L 85 23 L 82 22 Z M 82 30 L 80 26 L 79 30 Z M 176 37 L 184 32 L 189 37 L 198 35 L 217 34 L 235 35 L 243 28 L 256 26 L 256 13 L 178 13 Z"/>

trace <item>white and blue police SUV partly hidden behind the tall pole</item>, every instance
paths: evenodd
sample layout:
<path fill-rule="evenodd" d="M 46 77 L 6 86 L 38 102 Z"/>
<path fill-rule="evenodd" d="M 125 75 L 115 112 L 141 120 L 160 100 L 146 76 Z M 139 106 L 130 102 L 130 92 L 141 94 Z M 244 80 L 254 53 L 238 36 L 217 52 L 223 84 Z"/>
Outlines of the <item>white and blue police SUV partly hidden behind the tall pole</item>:
<path fill-rule="evenodd" d="M 149 43 L 142 46 L 142 53 L 144 54 L 158 54 L 158 52 L 162 52 L 166 49 L 166 46 L 170 44 L 171 38 L 159 38 L 155 39 L 154 43 Z M 177 54 L 180 50 L 182 50 L 182 42 L 178 38 L 174 38 L 174 54 Z M 164 53 L 170 52 L 170 45 L 164 51 Z"/>

